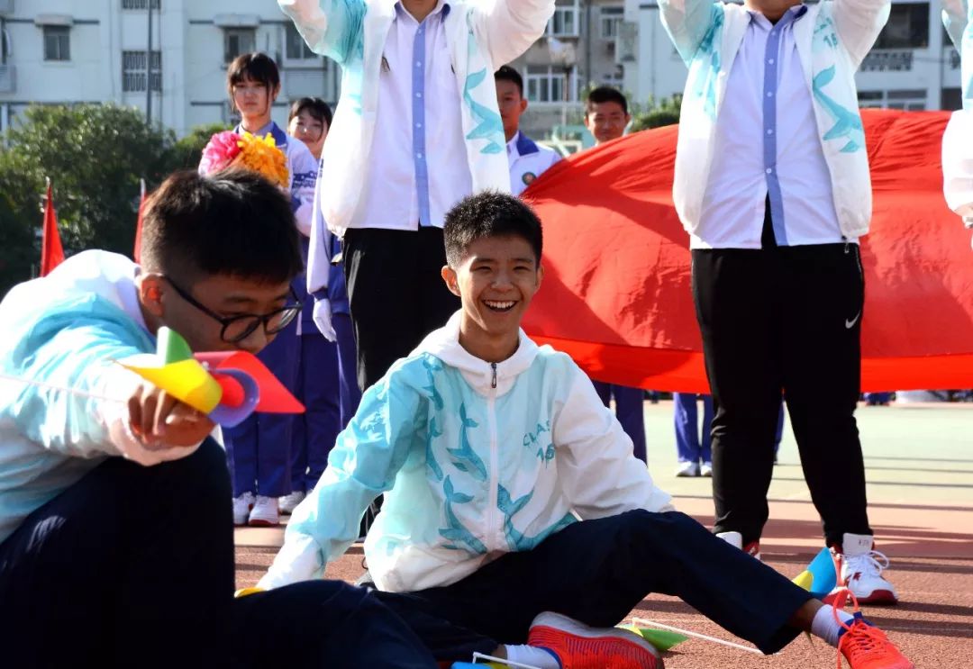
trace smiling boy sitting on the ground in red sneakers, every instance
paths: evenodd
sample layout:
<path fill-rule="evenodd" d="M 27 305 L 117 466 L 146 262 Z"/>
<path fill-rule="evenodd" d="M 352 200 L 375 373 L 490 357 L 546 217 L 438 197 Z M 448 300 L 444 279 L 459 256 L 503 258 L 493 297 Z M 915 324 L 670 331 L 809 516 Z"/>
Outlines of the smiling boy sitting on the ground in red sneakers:
<path fill-rule="evenodd" d="M 444 238 L 460 310 L 365 393 L 262 587 L 320 577 L 384 493 L 365 542 L 376 596 L 441 661 L 480 651 L 541 669 L 661 667 L 612 625 L 664 592 L 765 652 L 806 630 L 852 669 L 912 669 L 860 616 L 672 511 L 585 373 L 523 334 L 544 272 L 540 222 L 522 201 L 465 198 Z"/>

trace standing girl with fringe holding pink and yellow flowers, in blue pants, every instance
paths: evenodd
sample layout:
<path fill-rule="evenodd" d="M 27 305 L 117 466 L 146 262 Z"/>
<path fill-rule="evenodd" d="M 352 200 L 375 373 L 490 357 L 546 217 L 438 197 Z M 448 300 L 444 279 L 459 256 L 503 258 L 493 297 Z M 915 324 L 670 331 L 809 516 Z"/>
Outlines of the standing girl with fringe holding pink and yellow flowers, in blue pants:
<path fill-rule="evenodd" d="M 307 238 L 313 208 L 317 161 L 304 142 L 290 139 L 270 118 L 280 92 L 280 73 L 266 53 L 244 53 L 227 70 L 227 88 L 240 123 L 234 132 L 258 137 L 272 135 L 287 158 L 291 208 L 301 230 L 302 257 L 307 260 Z M 304 283 L 304 277 L 295 281 Z M 303 295 L 303 289 L 302 289 Z M 261 361 L 288 390 L 297 390 L 300 367 L 300 323 L 282 332 L 261 354 Z M 291 492 L 291 443 L 296 421 L 289 415 L 251 415 L 226 431 L 227 454 L 234 476 L 234 524 L 276 525 L 280 522 L 278 498 Z"/>

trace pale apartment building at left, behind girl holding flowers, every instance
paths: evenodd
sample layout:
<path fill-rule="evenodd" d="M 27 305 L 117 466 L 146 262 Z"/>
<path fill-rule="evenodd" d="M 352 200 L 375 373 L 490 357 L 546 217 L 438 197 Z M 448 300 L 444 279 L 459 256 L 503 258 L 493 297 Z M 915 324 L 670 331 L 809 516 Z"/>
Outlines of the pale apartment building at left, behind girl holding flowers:
<path fill-rule="evenodd" d="M 269 0 L 0 0 L 0 130 L 33 103 L 137 107 L 179 134 L 230 123 L 227 64 L 257 50 L 281 68 L 277 123 L 298 97 L 337 101 L 338 68 Z"/>

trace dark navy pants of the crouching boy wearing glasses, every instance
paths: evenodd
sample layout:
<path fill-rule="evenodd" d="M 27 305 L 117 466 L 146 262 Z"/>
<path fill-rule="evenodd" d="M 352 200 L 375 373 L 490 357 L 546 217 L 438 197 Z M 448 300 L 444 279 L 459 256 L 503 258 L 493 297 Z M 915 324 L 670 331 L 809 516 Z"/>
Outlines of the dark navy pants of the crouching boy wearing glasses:
<path fill-rule="evenodd" d="M 233 598 L 227 456 L 109 458 L 0 543 L 0 665 L 435 669 L 373 595 L 305 581 Z"/>

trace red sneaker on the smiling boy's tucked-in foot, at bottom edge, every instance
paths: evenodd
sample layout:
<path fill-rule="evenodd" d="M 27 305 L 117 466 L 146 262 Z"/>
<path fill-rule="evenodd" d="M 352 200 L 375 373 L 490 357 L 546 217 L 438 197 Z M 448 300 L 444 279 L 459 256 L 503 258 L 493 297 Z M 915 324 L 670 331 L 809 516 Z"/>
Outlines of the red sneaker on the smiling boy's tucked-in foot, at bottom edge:
<path fill-rule="evenodd" d="M 561 669 L 663 669 L 659 651 L 638 634 L 550 612 L 534 618 L 527 644 L 555 653 Z"/>

